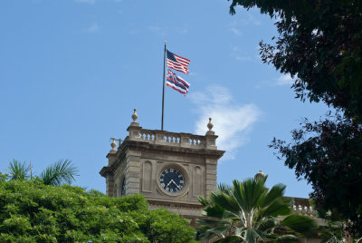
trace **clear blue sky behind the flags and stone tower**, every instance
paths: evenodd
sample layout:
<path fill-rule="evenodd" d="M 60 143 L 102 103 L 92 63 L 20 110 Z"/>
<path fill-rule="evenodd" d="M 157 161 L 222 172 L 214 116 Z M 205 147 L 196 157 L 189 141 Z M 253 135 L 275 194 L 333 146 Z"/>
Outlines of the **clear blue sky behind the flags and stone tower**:
<path fill-rule="evenodd" d="M 105 192 L 100 169 L 110 137 L 138 122 L 160 129 L 163 48 L 191 60 L 187 96 L 166 88 L 165 130 L 204 134 L 212 117 L 225 150 L 218 182 L 258 170 L 287 195 L 308 197 L 305 181 L 268 144 L 290 140 L 323 104 L 294 99 L 291 77 L 261 61 L 258 43 L 276 33 L 257 9 L 230 2 L 24 0 L 0 2 L 0 170 L 32 160 L 35 173 L 60 159 L 80 170 L 75 185 Z"/>

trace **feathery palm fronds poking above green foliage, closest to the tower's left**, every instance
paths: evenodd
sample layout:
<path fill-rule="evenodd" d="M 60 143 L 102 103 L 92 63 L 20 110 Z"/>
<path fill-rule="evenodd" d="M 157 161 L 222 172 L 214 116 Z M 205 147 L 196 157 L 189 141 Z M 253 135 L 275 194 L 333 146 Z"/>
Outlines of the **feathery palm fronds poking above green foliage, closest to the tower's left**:
<path fill-rule="evenodd" d="M 63 182 L 71 184 L 78 170 L 71 165 L 71 160 L 59 160 L 43 170 L 40 178 L 45 185 L 60 186 Z"/>

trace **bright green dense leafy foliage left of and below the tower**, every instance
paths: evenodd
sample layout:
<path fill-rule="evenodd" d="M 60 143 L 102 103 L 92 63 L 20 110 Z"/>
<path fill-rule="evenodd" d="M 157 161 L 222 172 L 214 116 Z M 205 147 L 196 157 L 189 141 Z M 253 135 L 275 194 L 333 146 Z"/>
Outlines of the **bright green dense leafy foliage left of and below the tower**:
<path fill-rule="evenodd" d="M 194 235 L 185 219 L 149 211 L 140 195 L 0 181 L 0 242 L 193 242 Z"/>

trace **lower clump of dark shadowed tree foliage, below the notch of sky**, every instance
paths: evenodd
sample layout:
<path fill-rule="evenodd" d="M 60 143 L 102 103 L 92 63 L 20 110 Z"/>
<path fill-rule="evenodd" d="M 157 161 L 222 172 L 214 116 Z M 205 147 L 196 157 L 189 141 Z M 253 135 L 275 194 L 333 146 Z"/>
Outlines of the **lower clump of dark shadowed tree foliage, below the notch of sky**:
<path fill-rule="evenodd" d="M 362 126 L 341 116 L 306 120 L 292 131 L 292 143 L 274 139 L 271 147 L 298 178 L 312 185 L 317 209 L 347 222 L 354 237 L 362 232 Z"/>

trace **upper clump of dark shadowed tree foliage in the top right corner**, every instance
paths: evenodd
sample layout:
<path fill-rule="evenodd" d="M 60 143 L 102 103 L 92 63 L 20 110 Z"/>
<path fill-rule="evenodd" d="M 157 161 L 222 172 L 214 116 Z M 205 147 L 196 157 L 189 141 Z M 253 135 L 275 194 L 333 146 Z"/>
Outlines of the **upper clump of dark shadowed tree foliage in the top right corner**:
<path fill-rule="evenodd" d="M 360 0 L 232 0 L 275 17 L 279 36 L 261 42 L 262 61 L 296 77 L 297 97 L 323 101 L 360 121 L 362 2 Z"/>

